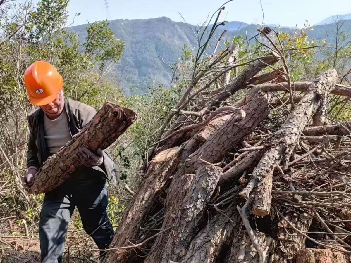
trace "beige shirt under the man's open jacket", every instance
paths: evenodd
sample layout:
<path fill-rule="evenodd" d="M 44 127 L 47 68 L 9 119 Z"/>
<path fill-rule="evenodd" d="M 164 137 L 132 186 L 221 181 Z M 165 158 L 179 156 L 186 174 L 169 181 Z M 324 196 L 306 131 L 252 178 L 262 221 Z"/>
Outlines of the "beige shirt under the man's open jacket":
<path fill-rule="evenodd" d="M 62 146 L 72 139 L 65 110 L 55 120 L 50 120 L 44 114 L 44 130 L 50 155 L 57 153 Z"/>

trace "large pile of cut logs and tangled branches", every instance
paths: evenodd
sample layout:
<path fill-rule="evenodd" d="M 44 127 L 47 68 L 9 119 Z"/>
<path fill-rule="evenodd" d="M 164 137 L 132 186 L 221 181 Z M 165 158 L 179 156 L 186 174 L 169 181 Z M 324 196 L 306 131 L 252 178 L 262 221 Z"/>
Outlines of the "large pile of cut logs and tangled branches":
<path fill-rule="evenodd" d="M 259 33 L 252 59 L 196 57 L 104 262 L 347 262 L 351 126 L 330 113 L 351 88 L 332 68 L 292 82 L 278 34 Z"/>

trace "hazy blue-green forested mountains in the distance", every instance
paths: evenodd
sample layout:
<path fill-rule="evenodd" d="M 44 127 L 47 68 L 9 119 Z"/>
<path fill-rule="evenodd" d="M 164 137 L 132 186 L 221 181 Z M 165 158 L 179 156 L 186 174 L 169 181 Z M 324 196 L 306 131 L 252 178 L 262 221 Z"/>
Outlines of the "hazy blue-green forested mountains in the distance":
<path fill-rule="evenodd" d="M 328 20 L 329 21 L 329 20 Z M 81 42 L 86 38 L 86 27 L 89 24 L 69 27 L 69 30 L 78 33 Z M 245 35 L 250 39 L 257 34 L 259 25 L 247 24 L 239 21 L 227 22 L 219 26 L 217 34 L 227 30 L 225 40 L 233 36 Z M 196 48 L 195 31 L 197 26 L 187 25 L 184 22 L 174 22 L 169 18 L 154 19 L 117 19 L 110 22 L 110 27 L 116 38 L 125 42 L 122 59 L 115 67 L 112 78 L 124 88 L 127 95 L 145 93 L 147 86 L 154 82 L 169 86 L 172 79 L 170 66 L 179 61 L 184 45 Z M 294 33 L 292 27 L 276 27 L 278 31 Z M 193 31 L 194 30 L 194 31 Z M 344 20 L 341 31 L 351 32 L 351 20 Z M 333 43 L 335 25 L 317 25 L 307 30 L 310 39 Z M 254 40 L 252 40 L 254 41 Z"/>

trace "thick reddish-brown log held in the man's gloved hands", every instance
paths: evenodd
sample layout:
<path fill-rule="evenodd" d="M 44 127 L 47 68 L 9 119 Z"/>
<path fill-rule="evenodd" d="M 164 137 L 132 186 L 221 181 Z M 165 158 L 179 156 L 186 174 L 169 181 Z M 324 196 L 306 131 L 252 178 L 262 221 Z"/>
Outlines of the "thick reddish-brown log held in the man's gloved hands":
<path fill-rule="evenodd" d="M 64 147 L 50 156 L 33 178 L 29 193 L 46 193 L 71 177 L 72 172 L 82 166 L 77 156 L 80 147 L 93 152 L 106 149 L 122 135 L 137 119 L 130 109 L 106 102 L 93 119 L 84 126 Z"/>

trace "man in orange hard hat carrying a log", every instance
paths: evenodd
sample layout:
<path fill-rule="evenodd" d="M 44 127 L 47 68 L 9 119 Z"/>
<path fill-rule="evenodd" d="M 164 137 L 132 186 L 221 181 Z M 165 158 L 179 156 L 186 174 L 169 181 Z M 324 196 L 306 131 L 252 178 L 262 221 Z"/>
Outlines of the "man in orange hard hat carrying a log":
<path fill-rule="evenodd" d="M 33 176 L 45 160 L 55 154 L 96 114 L 94 108 L 65 99 L 63 79 L 50 63 L 36 61 L 25 72 L 25 86 L 31 104 L 39 106 L 28 115 L 27 173 L 24 182 L 33 183 Z M 39 237 L 41 260 L 62 262 L 68 222 L 77 206 L 84 230 L 106 249 L 114 231 L 106 207 L 106 179 L 113 180 L 118 171 L 106 150 L 92 153 L 87 148 L 77 151 L 82 167 L 71 178 L 45 194 L 40 213 Z"/>

